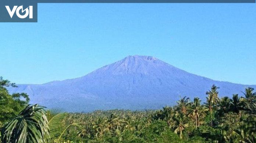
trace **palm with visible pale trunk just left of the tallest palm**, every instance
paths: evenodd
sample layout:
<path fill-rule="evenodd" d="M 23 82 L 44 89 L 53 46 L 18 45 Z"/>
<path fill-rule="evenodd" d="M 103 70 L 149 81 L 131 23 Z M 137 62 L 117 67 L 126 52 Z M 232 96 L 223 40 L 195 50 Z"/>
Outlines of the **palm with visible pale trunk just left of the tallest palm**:
<path fill-rule="evenodd" d="M 196 124 L 196 128 L 199 126 L 199 116 L 204 114 L 205 109 L 203 108 L 203 106 L 200 105 L 201 100 L 196 97 L 194 98 L 194 102 L 191 105 L 191 110 L 192 113 L 190 114 L 190 116 L 192 116 L 192 118 L 195 120 L 195 124 Z"/>

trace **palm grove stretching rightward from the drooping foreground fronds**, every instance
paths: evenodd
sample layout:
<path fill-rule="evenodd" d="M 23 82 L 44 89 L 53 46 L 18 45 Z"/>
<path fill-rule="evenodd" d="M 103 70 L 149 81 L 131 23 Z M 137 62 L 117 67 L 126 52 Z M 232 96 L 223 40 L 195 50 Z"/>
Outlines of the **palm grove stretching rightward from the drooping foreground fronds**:
<path fill-rule="evenodd" d="M 92 113 L 69 113 L 65 124 L 84 124 L 69 128 L 63 140 L 74 143 L 239 143 L 255 142 L 256 117 L 252 99 L 218 98 L 212 86 L 205 104 L 181 98 L 174 107 L 156 111 L 97 110 Z M 249 93 L 248 93 L 249 92 Z M 250 95 L 250 96 L 249 96 Z M 248 101 L 252 102 L 248 102 Z M 77 134 L 75 134 L 77 133 Z"/>

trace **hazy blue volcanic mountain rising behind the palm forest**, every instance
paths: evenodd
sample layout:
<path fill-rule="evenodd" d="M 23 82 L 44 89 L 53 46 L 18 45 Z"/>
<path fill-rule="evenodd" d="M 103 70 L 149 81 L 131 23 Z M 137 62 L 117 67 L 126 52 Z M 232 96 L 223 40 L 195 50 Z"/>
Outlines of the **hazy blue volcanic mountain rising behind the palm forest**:
<path fill-rule="evenodd" d="M 220 82 L 190 74 L 151 56 L 127 56 L 76 79 L 45 84 L 20 84 L 31 104 L 82 112 L 96 109 L 156 109 L 174 105 L 183 96 L 205 99 L 216 84 L 220 96 L 241 94 L 249 85 Z M 256 88 L 255 85 L 250 87 Z"/>

